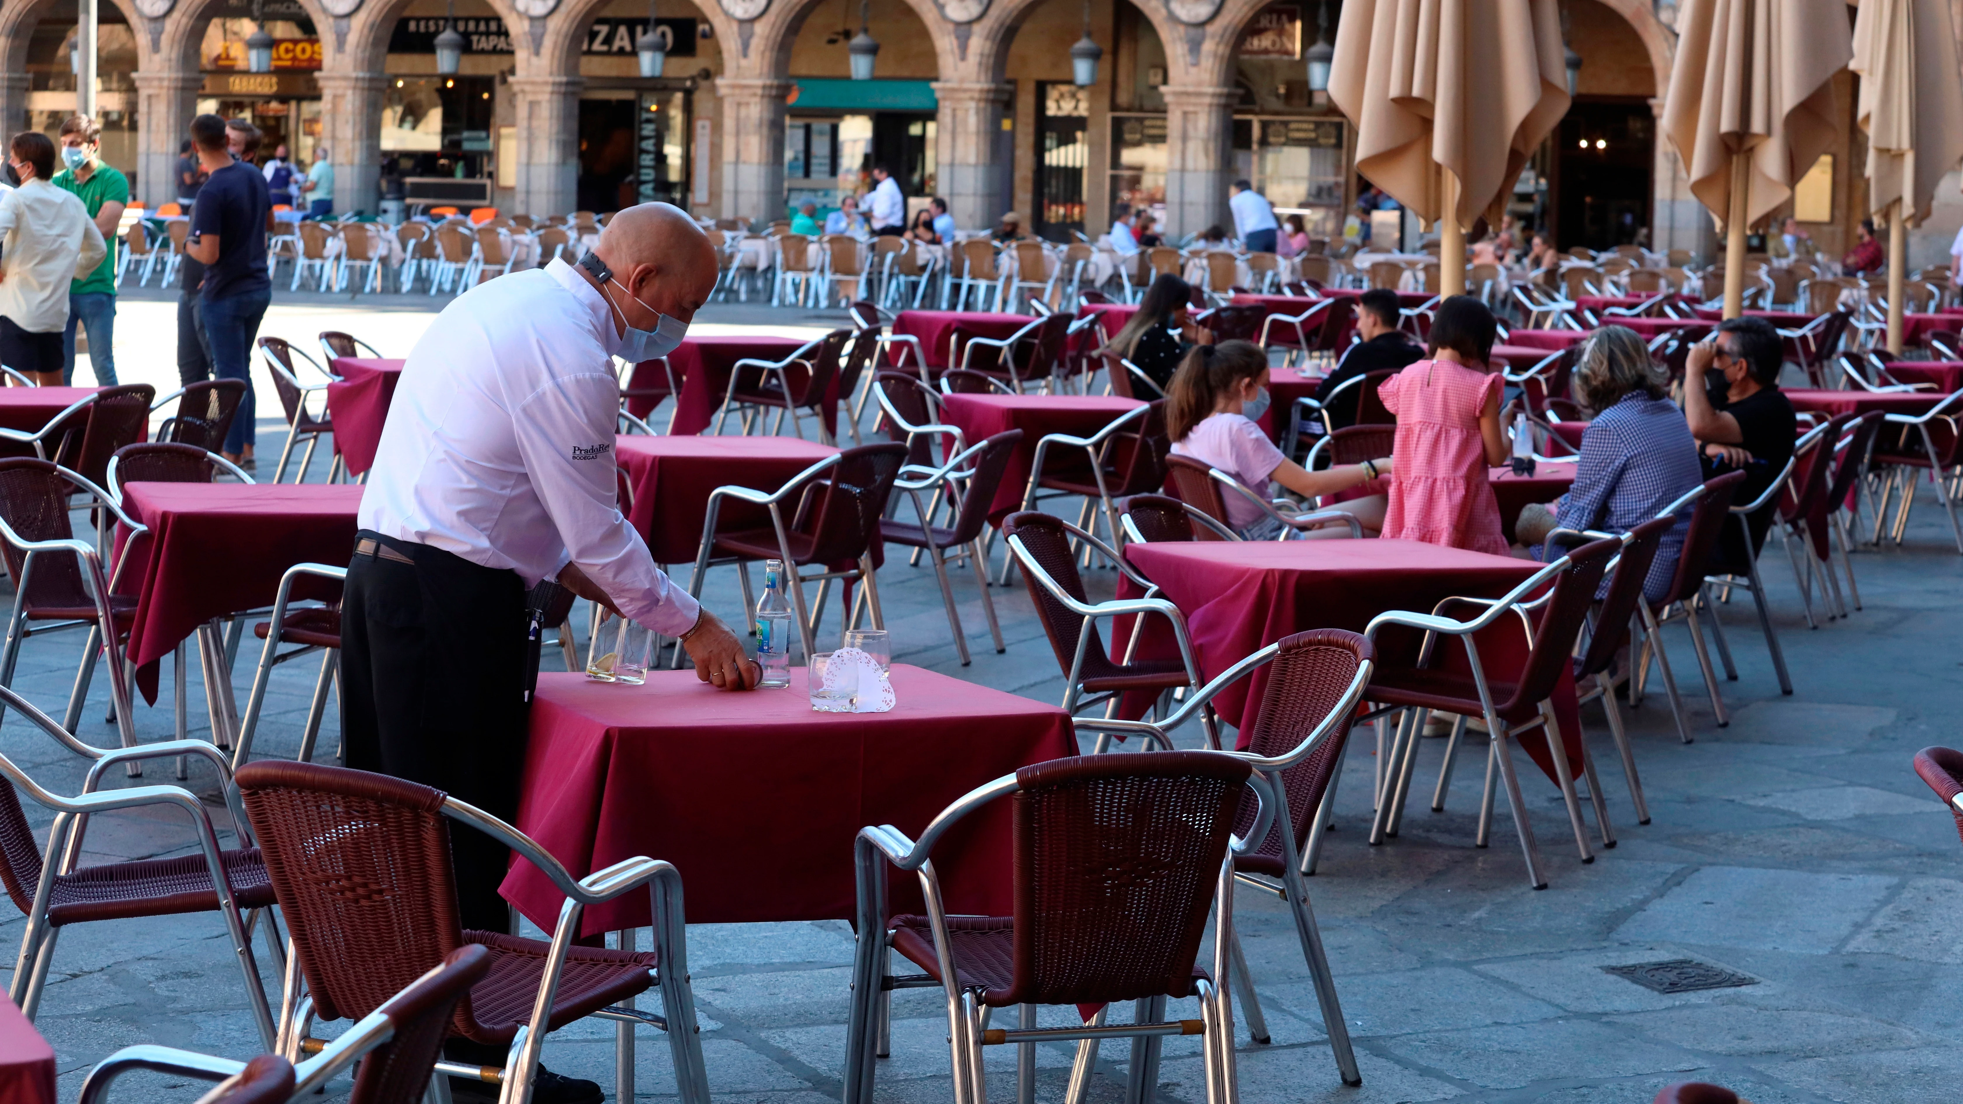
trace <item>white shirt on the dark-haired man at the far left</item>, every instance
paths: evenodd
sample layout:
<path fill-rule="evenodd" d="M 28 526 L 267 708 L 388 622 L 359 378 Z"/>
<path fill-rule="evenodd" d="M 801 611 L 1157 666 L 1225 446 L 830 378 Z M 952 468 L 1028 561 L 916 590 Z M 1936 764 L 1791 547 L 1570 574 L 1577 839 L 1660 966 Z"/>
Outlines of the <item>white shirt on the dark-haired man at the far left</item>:
<path fill-rule="evenodd" d="M 0 318 L 29 334 L 69 324 L 69 285 L 108 257 L 75 193 L 33 179 L 0 194 Z"/>

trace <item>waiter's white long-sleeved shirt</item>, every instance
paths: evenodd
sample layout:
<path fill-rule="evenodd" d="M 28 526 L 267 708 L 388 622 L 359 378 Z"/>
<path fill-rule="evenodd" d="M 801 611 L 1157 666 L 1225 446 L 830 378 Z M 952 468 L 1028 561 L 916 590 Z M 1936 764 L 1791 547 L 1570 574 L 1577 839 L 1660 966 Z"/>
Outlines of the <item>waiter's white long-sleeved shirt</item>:
<path fill-rule="evenodd" d="M 361 528 L 444 548 L 526 585 L 579 564 L 665 636 L 697 603 L 614 499 L 620 348 L 607 301 L 565 261 L 457 297 L 402 363 Z"/>

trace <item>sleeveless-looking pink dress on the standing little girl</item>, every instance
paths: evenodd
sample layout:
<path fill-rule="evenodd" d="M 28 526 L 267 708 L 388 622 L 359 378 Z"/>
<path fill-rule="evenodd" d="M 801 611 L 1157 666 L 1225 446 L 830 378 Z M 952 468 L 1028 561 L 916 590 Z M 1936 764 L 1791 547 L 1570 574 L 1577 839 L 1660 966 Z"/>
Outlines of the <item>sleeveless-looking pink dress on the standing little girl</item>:
<path fill-rule="evenodd" d="M 1478 413 L 1502 385 L 1449 359 L 1421 359 L 1384 381 L 1378 397 L 1398 416 L 1384 536 L 1506 556 L 1478 432 Z"/>

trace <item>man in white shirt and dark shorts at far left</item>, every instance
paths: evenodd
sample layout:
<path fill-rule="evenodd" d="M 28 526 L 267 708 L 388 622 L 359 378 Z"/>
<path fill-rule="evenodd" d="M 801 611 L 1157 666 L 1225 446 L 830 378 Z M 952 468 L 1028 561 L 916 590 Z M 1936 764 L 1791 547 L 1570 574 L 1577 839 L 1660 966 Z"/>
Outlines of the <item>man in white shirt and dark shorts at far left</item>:
<path fill-rule="evenodd" d="M 41 387 L 61 385 L 69 287 L 108 257 L 75 193 L 53 185 L 55 143 L 37 130 L 8 141 L 20 187 L 0 194 L 0 363 Z"/>

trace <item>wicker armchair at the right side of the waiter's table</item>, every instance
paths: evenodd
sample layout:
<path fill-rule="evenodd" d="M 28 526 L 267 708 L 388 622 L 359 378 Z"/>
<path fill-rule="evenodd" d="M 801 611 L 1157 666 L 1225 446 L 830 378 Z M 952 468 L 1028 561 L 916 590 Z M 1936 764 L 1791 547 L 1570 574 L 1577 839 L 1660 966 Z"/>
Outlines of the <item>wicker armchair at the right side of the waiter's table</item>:
<path fill-rule="evenodd" d="M 1368 640 L 1343 629 L 1315 629 L 1284 636 L 1227 668 L 1197 695 L 1188 697 L 1180 711 L 1162 723 L 1078 719 L 1078 733 L 1141 735 L 1170 743 L 1170 733 L 1209 701 L 1215 693 L 1268 666 L 1260 707 L 1248 729 L 1248 745 L 1239 754 L 1268 782 L 1274 794 L 1274 831 L 1260 837 L 1245 855 L 1235 855 L 1235 878 L 1268 890 L 1288 904 L 1301 941 L 1301 959 L 1315 982 L 1323 1023 L 1331 1025 L 1329 1043 L 1335 1051 L 1343 1084 L 1362 1084 L 1356 1055 L 1351 1049 L 1343 1004 L 1337 1000 L 1335 976 L 1323 953 L 1323 935 L 1309 908 L 1305 878 L 1315 872 L 1323 833 L 1335 811 L 1335 790 L 1343 774 L 1343 748 L 1349 746 L 1351 725 L 1376 652 Z M 1235 831 L 1247 835 L 1254 809 L 1245 801 L 1235 819 Z M 1248 837 L 1252 839 L 1252 837 Z M 1241 988 L 1241 1010 L 1256 1043 L 1268 1041 L 1260 998 L 1241 953 L 1241 941 L 1231 947 L 1235 984 Z M 1095 1043 L 1091 1043 L 1095 1047 Z"/>

